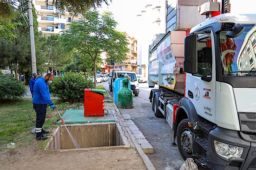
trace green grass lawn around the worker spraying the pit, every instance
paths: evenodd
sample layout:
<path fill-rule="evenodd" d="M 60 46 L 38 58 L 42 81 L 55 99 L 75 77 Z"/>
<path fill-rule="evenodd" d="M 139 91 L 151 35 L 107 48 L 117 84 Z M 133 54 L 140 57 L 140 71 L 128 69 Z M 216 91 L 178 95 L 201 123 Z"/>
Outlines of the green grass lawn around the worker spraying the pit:
<path fill-rule="evenodd" d="M 52 101 L 61 115 L 67 109 L 79 109 L 83 106 L 83 103 L 61 103 L 57 99 Z M 10 142 L 15 142 L 16 147 L 26 147 L 32 143 L 46 144 L 46 142 L 35 142 L 36 135 L 30 132 L 35 127 L 35 123 L 30 121 L 29 116 L 31 115 L 32 120 L 36 118 L 32 108 L 31 98 L 5 99 L 0 102 L 0 150 L 5 149 Z M 48 107 L 44 128 L 53 132 L 53 129 L 60 125 L 56 123 L 58 119 L 57 111 Z"/>

